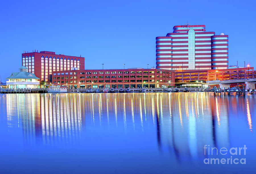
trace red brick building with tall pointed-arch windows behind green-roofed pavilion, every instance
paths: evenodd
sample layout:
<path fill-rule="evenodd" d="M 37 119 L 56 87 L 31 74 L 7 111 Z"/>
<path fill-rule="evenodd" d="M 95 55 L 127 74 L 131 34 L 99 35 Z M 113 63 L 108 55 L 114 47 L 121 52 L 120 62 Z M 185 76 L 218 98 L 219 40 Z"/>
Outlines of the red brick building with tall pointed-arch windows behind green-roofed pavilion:
<path fill-rule="evenodd" d="M 66 56 L 50 51 L 33 51 L 22 54 L 22 65 L 41 81 L 51 82 L 54 71 L 71 70 L 72 67 L 84 69 L 84 57 Z"/>

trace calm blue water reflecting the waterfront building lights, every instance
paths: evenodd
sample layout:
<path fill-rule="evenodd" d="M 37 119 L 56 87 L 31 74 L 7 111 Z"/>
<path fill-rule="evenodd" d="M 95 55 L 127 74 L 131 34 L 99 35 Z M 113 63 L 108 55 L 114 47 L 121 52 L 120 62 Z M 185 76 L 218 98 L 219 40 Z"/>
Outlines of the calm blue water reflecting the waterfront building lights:
<path fill-rule="evenodd" d="M 255 96 L 0 94 L 1 173 L 249 173 Z M 204 164 L 205 145 L 246 164 Z M 216 151 L 214 151 L 216 153 Z"/>

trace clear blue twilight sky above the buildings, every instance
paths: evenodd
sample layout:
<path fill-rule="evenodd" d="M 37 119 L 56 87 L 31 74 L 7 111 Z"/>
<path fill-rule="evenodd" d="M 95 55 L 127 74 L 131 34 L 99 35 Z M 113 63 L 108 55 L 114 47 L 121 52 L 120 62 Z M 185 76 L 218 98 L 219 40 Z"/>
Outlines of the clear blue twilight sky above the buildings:
<path fill-rule="evenodd" d="M 174 25 L 229 35 L 229 64 L 255 66 L 255 1 L 3 1 L 0 75 L 26 50 L 85 57 L 86 69 L 155 65 L 155 37 Z"/>

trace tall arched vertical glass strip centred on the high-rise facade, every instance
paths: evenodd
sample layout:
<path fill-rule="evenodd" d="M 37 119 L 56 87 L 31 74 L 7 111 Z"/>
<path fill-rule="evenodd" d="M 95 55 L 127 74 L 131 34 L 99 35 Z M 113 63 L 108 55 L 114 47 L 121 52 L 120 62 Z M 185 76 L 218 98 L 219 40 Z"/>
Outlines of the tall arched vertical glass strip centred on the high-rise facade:
<path fill-rule="evenodd" d="M 189 70 L 195 69 L 195 30 L 191 29 L 188 31 L 188 61 Z"/>

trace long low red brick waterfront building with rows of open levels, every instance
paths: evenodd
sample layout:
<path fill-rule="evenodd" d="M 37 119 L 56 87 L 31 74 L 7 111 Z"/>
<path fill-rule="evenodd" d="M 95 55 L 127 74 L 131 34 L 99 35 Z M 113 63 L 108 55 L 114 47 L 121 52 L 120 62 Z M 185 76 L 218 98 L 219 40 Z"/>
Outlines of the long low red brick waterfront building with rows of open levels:
<path fill-rule="evenodd" d="M 142 68 L 56 71 L 52 77 L 53 84 L 69 88 L 162 88 L 175 82 L 173 70 Z"/>

